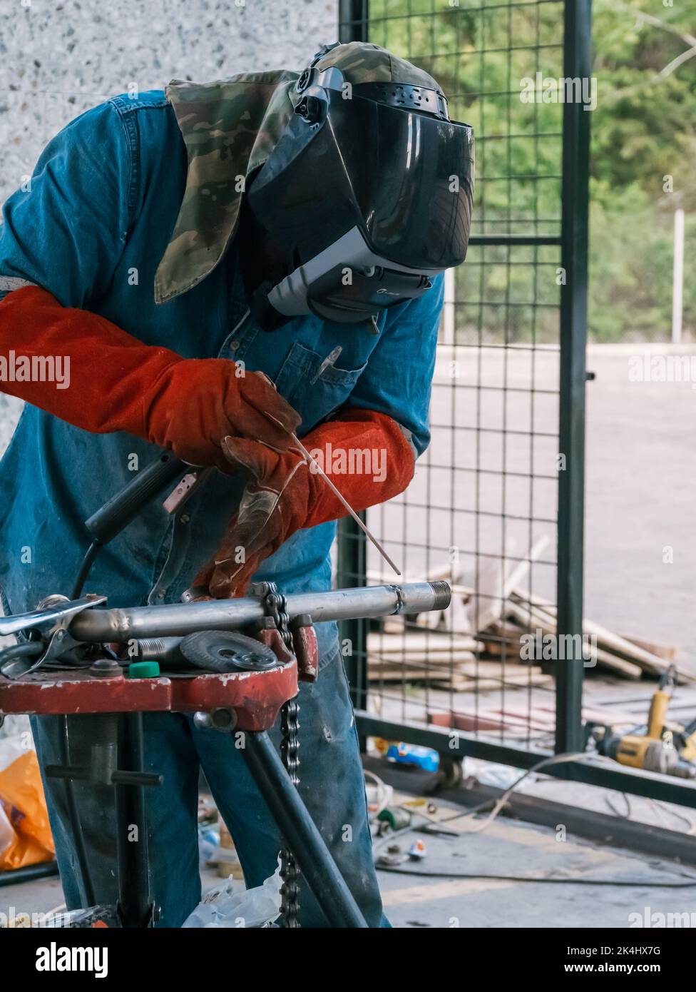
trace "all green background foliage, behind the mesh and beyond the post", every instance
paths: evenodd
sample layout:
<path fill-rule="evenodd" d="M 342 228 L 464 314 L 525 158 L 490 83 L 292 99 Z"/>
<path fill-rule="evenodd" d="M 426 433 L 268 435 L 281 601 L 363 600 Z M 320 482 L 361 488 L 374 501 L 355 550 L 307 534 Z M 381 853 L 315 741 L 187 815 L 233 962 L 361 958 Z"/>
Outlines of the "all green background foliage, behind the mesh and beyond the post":
<path fill-rule="evenodd" d="M 473 232 L 557 234 L 562 104 L 521 94 L 524 78 L 563 75 L 563 4 L 371 0 L 370 12 L 370 40 L 432 72 L 451 116 L 475 129 Z M 687 0 L 594 0 L 590 329 L 600 340 L 669 336 L 677 204 L 684 324 L 696 335 L 695 33 Z M 556 340 L 558 264 L 555 249 L 472 247 L 457 274 L 460 334 Z"/>

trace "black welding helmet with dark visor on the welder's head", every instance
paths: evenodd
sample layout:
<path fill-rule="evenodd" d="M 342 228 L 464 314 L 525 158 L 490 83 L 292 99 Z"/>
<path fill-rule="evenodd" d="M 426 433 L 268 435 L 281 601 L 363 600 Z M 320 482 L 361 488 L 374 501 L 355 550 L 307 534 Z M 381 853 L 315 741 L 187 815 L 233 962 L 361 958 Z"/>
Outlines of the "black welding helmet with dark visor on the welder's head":
<path fill-rule="evenodd" d="M 374 324 L 464 261 L 473 131 L 431 76 L 372 45 L 322 50 L 292 102 L 247 186 L 255 315 L 267 329 L 303 313 Z"/>

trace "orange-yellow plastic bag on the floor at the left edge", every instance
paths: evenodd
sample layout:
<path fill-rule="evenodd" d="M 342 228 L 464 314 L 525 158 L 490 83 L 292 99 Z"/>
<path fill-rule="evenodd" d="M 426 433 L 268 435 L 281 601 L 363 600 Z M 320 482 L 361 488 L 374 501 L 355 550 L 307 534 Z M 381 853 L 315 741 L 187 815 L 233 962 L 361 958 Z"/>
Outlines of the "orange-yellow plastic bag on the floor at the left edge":
<path fill-rule="evenodd" d="M 0 806 L 14 834 L 0 850 L 0 870 L 51 861 L 56 851 L 34 751 L 20 755 L 0 772 Z M 3 836 L 7 839 L 6 831 Z"/>

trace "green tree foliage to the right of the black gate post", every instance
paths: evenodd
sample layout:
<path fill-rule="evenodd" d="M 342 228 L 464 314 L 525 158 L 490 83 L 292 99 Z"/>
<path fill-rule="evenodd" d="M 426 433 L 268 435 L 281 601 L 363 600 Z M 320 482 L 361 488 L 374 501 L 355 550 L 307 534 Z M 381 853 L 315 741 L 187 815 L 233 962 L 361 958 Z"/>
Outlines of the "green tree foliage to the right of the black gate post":
<path fill-rule="evenodd" d="M 696 4 L 686 0 L 595 0 L 590 329 L 599 340 L 668 339 L 678 205 L 684 330 L 696 336 L 694 35 Z"/>

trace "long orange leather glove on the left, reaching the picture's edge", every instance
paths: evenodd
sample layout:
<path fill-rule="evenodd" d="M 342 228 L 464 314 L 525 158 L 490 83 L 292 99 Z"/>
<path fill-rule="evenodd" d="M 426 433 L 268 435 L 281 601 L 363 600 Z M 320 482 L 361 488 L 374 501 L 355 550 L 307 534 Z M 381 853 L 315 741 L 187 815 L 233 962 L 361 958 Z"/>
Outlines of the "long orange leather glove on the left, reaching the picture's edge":
<path fill-rule="evenodd" d="M 96 313 L 61 307 L 38 287 L 0 303 L 0 361 L 19 367 L 20 356 L 69 359 L 68 388 L 5 377 L 0 391 L 93 434 L 135 434 L 191 465 L 233 471 L 221 447 L 226 435 L 285 451 L 300 421 L 263 372 L 240 374 L 226 358 L 182 358 L 143 344 Z"/>

